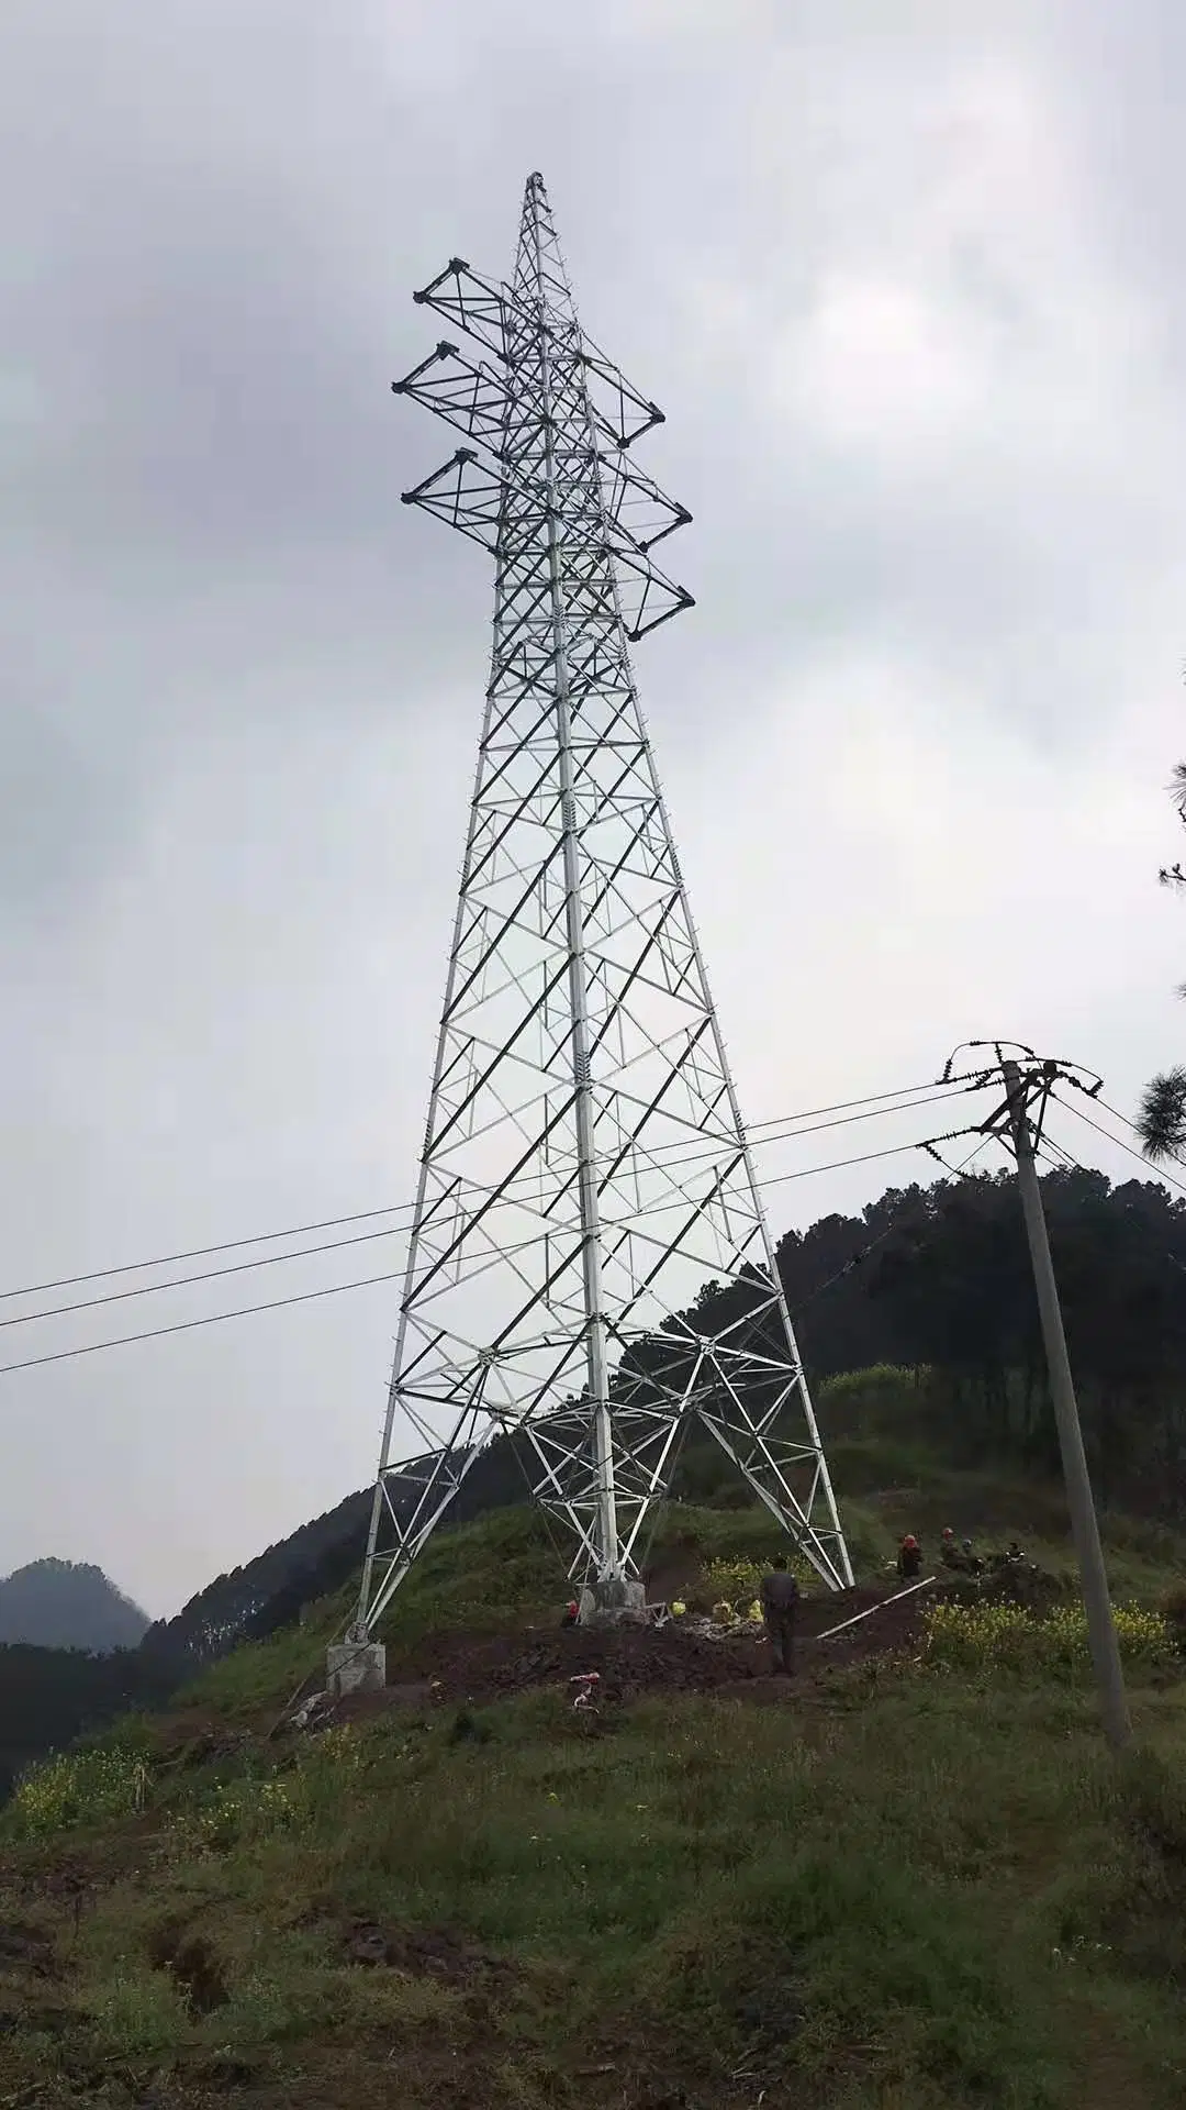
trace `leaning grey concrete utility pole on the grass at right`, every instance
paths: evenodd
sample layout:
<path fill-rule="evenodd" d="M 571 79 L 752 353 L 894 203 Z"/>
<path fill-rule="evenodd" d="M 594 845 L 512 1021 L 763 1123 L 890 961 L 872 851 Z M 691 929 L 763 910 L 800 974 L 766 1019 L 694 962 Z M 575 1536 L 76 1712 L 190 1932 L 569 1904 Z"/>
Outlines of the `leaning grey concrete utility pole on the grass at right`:
<path fill-rule="evenodd" d="M 1091 1477 L 1087 1473 L 1087 1454 L 1083 1450 L 1083 1426 L 1078 1422 L 1074 1380 L 1070 1376 L 1070 1357 L 1066 1353 L 1066 1331 L 1051 1260 L 1051 1241 L 1047 1234 L 1047 1215 L 1042 1209 L 1042 1190 L 1038 1186 L 1038 1171 L 1034 1165 L 1034 1144 L 1030 1137 L 1028 1116 L 1030 1078 L 1021 1076 L 1015 1061 L 1002 1061 L 1000 1068 L 1005 1089 L 1009 1093 L 1009 1127 L 1013 1131 L 1013 1148 L 1017 1152 L 1017 1186 L 1021 1188 L 1021 1209 L 1026 1213 L 1026 1234 L 1030 1239 L 1030 1260 L 1034 1264 L 1034 1287 L 1038 1291 L 1038 1312 L 1042 1319 L 1042 1340 L 1051 1374 L 1051 1399 L 1059 1433 L 1066 1498 L 1070 1504 L 1070 1528 L 1074 1534 L 1074 1551 L 1078 1555 L 1078 1572 L 1083 1576 L 1087 1639 L 1091 1644 L 1095 1684 L 1099 1686 L 1104 1734 L 1108 1737 L 1112 1749 L 1123 1751 L 1125 1745 L 1131 1743 L 1133 1724 L 1129 1720 L 1125 1673 L 1121 1669 L 1121 1648 L 1116 1642 L 1116 1623 L 1112 1618 L 1112 1599 L 1108 1595 L 1108 1572 L 1104 1568 L 1104 1547 L 1099 1545 L 1099 1523 L 1095 1517 Z"/>

